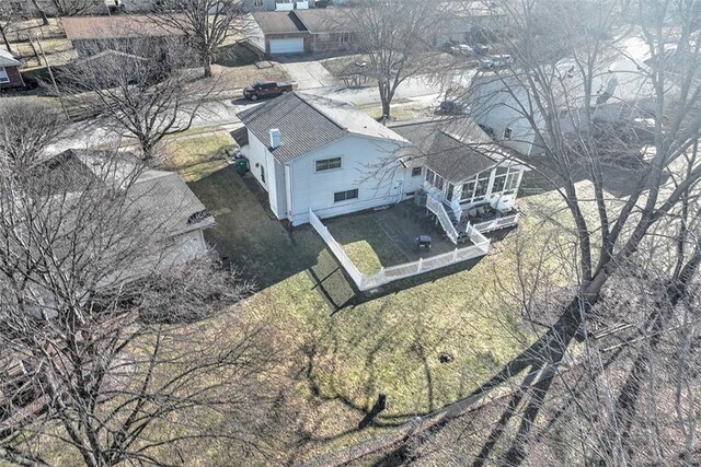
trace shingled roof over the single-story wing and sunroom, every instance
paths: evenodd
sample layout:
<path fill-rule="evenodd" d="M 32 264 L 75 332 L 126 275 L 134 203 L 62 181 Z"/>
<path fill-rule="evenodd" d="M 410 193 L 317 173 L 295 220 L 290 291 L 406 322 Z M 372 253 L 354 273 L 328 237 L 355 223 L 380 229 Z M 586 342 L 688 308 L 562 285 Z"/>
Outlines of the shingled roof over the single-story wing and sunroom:
<path fill-rule="evenodd" d="M 398 124 L 391 128 L 421 150 L 428 168 L 456 185 L 505 159 L 503 151 L 469 118 Z"/>

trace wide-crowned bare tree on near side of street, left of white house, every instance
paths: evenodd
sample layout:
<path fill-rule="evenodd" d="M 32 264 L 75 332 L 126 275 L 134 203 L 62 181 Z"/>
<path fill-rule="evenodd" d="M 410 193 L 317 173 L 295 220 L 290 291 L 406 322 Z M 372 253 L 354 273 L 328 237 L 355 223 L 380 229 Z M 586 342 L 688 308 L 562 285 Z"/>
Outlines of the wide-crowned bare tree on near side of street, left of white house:
<path fill-rule="evenodd" d="M 73 106 L 105 117 L 115 131 L 136 138 L 150 161 L 166 136 L 187 130 L 216 83 L 197 81 L 185 67 L 180 38 L 115 42 L 96 57 L 67 68 L 59 87 Z"/>

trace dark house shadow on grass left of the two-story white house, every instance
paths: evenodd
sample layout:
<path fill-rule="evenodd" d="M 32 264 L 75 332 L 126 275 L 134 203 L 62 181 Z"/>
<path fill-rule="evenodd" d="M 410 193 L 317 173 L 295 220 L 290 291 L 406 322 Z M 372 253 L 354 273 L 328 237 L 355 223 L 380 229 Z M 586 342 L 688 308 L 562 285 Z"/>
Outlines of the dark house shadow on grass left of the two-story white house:
<path fill-rule="evenodd" d="M 288 232 L 266 208 L 266 194 L 254 179 L 226 166 L 188 186 L 217 221 L 205 238 L 225 265 L 240 268 L 260 290 L 306 271 L 332 310 L 347 306 L 355 291 L 321 237 L 310 226 Z"/>

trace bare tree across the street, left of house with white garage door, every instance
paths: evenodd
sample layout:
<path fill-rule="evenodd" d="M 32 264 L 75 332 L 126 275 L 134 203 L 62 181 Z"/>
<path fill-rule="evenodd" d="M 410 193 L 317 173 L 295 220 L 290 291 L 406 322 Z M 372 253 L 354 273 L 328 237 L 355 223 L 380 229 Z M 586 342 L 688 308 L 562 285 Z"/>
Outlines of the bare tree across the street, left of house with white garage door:
<path fill-rule="evenodd" d="M 238 0 L 164 0 L 156 11 L 156 22 L 185 33 L 205 78 L 211 78 L 211 63 L 225 42 L 243 39 L 250 27 L 244 3 Z"/>

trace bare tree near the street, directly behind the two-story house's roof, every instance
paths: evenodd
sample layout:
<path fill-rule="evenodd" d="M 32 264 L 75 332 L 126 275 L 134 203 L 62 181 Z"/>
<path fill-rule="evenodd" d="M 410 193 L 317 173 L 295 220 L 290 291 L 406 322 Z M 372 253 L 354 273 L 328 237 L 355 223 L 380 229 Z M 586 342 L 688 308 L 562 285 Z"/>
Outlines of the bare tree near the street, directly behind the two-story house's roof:
<path fill-rule="evenodd" d="M 369 74 L 377 80 L 382 114 L 391 116 L 397 89 L 410 78 L 435 67 L 435 28 L 443 2 L 417 0 L 361 0 L 344 9 L 341 23 L 353 31 L 359 52 L 369 60 Z"/>

